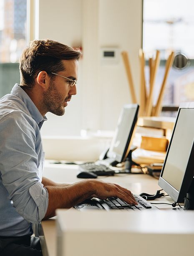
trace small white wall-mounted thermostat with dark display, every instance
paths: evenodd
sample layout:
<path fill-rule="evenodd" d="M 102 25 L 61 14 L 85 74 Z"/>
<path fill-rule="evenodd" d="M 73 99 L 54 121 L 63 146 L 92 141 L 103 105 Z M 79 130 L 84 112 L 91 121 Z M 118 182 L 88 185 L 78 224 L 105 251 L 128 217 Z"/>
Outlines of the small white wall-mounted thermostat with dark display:
<path fill-rule="evenodd" d="M 117 47 L 102 47 L 101 48 L 101 64 L 117 64 L 118 63 L 118 48 Z"/>

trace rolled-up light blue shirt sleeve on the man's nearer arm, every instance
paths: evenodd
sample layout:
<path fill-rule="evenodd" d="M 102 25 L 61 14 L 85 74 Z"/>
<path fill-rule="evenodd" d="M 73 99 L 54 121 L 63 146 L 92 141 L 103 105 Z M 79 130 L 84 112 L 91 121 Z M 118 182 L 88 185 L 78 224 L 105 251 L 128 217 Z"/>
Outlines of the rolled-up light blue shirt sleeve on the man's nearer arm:
<path fill-rule="evenodd" d="M 1 120 L 0 141 L 0 174 L 9 200 L 25 220 L 39 223 L 48 208 L 48 191 L 41 183 L 38 125 L 25 113 L 10 113 Z"/>

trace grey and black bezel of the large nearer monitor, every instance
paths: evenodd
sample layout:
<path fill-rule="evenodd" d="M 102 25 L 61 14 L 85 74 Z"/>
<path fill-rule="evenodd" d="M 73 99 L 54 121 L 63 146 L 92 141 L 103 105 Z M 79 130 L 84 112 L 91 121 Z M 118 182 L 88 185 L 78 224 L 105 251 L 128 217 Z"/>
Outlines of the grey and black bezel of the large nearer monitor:
<path fill-rule="evenodd" d="M 169 154 L 169 151 L 170 151 L 171 142 L 172 142 L 172 139 L 173 139 L 173 136 L 174 136 L 174 132 L 175 132 L 175 129 L 176 129 L 176 124 L 177 124 L 181 109 L 194 109 L 194 102 L 184 102 L 184 103 L 181 103 L 180 106 L 179 106 L 179 110 L 178 110 L 178 113 L 177 113 L 176 121 L 175 121 L 174 128 L 173 128 L 173 132 L 172 132 L 172 135 L 171 135 L 171 139 L 170 139 L 170 142 L 169 142 L 168 149 L 166 151 L 166 157 L 164 159 L 164 164 L 163 164 L 161 174 L 160 174 L 160 177 L 159 177 L 159 181 L 158 181 L 159 186 L 162 189 L 164 189 L 164 191 L 175 202 L 183 202 L 184 197 L 186 196 L 186 193 L 188 192 L 188 190 L 191 186 L 191 182 L 192 182 L 193 177 L 194 177 L 194 143 L 191 147 L 189 160 L 188 160 L 188 163 L 187 163 L 187 166 L 186 166 L 184 177 L 182 179 L 180 190 L 178 191 L 176 188 L 174 188 L 169 182 L 167 182 L 162 177 L 162 175 L 164 173 L 166 161 L 168 159 L 168 154 Z"/>

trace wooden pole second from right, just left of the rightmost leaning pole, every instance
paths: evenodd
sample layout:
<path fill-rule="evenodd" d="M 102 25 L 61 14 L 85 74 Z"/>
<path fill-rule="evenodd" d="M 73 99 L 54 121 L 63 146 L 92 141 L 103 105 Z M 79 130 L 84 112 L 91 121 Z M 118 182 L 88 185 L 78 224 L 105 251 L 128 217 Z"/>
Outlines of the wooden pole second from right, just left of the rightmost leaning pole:
<path fill-rule="evenodd" d="M 151 77 L 150 77 L 150 92 L 149 92 L 149 98 L 147 100 L 147 106 L 146 106 L 146 116 L 151 116 L 151 111 L 153 107 L 153 92 L 154 92 L 154 83 L 156 80 L 156 74 L 157 70 L 160 64 L 160 51 L 156 51 L 156 59 L 154 60 L 154 67 L 151 69 Z"/>

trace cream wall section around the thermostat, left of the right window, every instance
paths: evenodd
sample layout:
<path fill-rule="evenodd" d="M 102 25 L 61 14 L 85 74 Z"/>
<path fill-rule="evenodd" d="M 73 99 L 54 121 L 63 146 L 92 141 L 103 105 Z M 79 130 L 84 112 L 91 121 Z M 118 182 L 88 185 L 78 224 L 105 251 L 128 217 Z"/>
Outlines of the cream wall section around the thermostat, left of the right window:
<path fill-rule="evenodd" d="M 136 95 L 139 95 L 139 49 L 141 48 L 141 0 L 101 0 L 99 19 L 99 47 L 117 46 L 128 51 Z M 126 72 L 121 54 L 115 65 L 101 65 L 101 129 L 111 129 L 116 124 L 123 104 L 131 103 Z M 111 119 L 107 120 L 107 113 Z"/>

